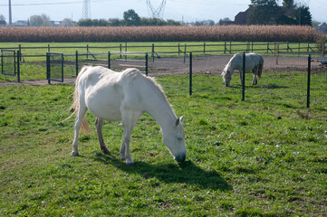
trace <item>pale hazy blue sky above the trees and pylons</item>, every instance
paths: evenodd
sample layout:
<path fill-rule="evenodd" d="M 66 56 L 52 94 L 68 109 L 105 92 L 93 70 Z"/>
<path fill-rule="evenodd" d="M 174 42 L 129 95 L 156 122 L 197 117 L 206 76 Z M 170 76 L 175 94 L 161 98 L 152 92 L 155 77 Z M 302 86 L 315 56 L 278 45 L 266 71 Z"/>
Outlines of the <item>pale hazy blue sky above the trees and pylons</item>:
<path fill-rule="evenodd" d="M 150 17 L 147 1 L 157 9 L 162 0 L 90 0 L 91 19 L 122 19 L 123 13 L 133 9 L 140 17 Z M 0 0 L 0 14 L 9 22 L 9 0 Z M 282 2 L 277 1 L 277 2 Z M 314 21 L 327 22 L 326 0 L 295 0 L 308 5 Z M 51 20 L 62 21 L 70 18 L 78 21 L 82 18 L 83 0 L 11 0 L 13 22 L 27 20 L 34 14 L 46 14 Z M 228 17 L 234 20 L 238 12 L 245 11 L 251 0 L 166 0 L 163 19 L 196 22 Z"/>

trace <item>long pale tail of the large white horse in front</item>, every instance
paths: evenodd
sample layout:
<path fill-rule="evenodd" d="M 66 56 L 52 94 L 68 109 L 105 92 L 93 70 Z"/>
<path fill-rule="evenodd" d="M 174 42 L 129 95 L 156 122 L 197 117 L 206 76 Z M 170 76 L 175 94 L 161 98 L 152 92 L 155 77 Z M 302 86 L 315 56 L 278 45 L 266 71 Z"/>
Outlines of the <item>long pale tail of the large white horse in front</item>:
<path fill-rule="evenodd" d="M 72 115 L 66 119 L 64 119 L 63 121 L 69 119 L 69 118 L 72 118 L 73 115 L 77 116 L 78 115 L 78 110 L 79 110 L 79 105 L 80 105 L 80 96 L 79 96 L 79 92 L 78 92 L 78 89 L 79 89 L 79 81 L 80 81 L 80 78 L 82 76 L 82 73 L 84 71 L 87 71 L 89 68 L 89 66 L 84 66 L 82 67 L 82 70 L 80 71 L 80 73 L 78 74 L 76 80 L 75 80 L 75 90 L 73 92 L 73 97 L 72 97 L 72 106 L 69 108 L 70 110 L 73 109 L 73 112 L 72 112 Z M 84 133 L 87 133 L 90 131 L 90 126 L 87 122 L 87 119 L 86 119 L 86 116 L 83 117 L 82 119 L 82 131 Z"/>

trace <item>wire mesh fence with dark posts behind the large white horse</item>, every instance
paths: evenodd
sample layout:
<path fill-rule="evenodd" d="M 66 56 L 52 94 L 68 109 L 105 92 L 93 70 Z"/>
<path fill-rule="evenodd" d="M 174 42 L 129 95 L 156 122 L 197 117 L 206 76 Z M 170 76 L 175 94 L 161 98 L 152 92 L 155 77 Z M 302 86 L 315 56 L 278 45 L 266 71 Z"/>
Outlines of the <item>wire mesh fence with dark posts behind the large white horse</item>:
<path fill-rule="evenodd" d="M 17 51 L 18 53 L 19 51 Z M 3 53 L 3 52 L 2 52 Z M 48 52 L 52 53 L 52 52 Z M 14 57 L 14 54 L 12 55 Z M 90 52 L 75 51 L 69 54 L 53 53 L 47 57 L 47 61 L 22 61 L 26 57 L 15 57 L 21 60 L 10 63 L 19 66 L 21 71 L 27 69 L 33 72 L 23 72 L 23 80 L 55 80 L 63 81 L 67 78 L 75 78 L 83 65 L 102 65 L 114 71 L 122 71 L 126 68 L 138 68 L 149 76 L 185 76 L 178 87 L 172 90 L 193 92 L 215 91 L 216 85 L 223 85 L 220 76 L 226 63 L 232 57 L 231 54 L 220 55 L 194 55 L 193 52 L 185 52 L 182 56 L 171 56 L 171 53 L 155 52 Z M 264 79 L 258 81 L 256 87 L 251 85 L 251 74 L 246 74 L 245 90 L 242 90 L 240 73 L 233 75 L 231 88 L 240 96 L 248 96 L 247 90 L 259 88 L 266 91 L 274 90 L 292 91 L 293 99 L 297 99 L 301 105 L 308 105 L 308 96 L 314 104 L 325 105 L 327 99 L 327 71 L 326 58 L 311 56 L 308 61 L 307 55 L 281 56 L 274 54 L 264 55 Z M 38 57 L 31 57 L 38 58 Z M 50 58 L 50 59 L 49 59 Z M 13 60 L 13 58 L 12 58 Z M 47 63 L 47 62 L 50 63 Z M 311 69 L 310 93 L 308 94 L 308 69 Z M 327 63 L 327 62 L 326 62 Z M 5 64 L 2 63 L 2 67 Z M 62 71 L 61 71 L 62 69 Z M 46 71 L 46 73 L 44 73 Z M 62 74 L 61 74 L 62 73 Z M 0 79 L 2 76 L 0 75 Z M 62 77 L 61 77 L 62 76 Z M 270 79 L 266 79 L 270 78 Z M 6 77 L 5 80 L 10 80 Z M 14 79 L 12 79 L 14 81 Z M 209 80 L 209 82 L 207 82 Z M 50 82 L 50 81 L 49 81 Z M 290 86 L 292 84 L 292 86 Z M 186 90 L 188 87 L 188 90 Z M 256 96 L 260 98 L 262 96 Z M 308 105 L 307 107 L 309 107 Z"/>

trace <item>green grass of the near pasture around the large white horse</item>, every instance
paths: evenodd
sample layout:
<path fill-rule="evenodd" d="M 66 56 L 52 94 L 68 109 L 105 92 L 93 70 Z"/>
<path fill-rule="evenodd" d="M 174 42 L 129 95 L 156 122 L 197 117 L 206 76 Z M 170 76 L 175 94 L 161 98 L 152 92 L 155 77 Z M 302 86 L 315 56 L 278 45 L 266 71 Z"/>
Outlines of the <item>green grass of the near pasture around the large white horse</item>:
<path fill-rule="evenodd" d="M 192 96 L 187 76 L 158 78 L 185 115 L 183 165 L 149 115 L 132 133 L 135 165 L 120 161 L 119 122 L 103 129 L 111 155 L 93 127 L 72 157 L 73 118 L 62 122 L 72 85 L 1 87 L 0 215 L 324 216 L 327 109 L 305 109 L 295 78 L 264 74 L 245 101 L 236 82 L 225 88 L 218 76 L 197 75 Z"/>

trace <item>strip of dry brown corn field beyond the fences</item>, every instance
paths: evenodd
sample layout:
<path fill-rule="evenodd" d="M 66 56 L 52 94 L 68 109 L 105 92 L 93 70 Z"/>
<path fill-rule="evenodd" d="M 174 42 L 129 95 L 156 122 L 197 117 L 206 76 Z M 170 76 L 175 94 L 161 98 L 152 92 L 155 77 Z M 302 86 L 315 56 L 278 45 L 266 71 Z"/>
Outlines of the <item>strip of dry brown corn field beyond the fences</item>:
<path fill-rule="evenodd" d="M 0 42 L 313 42 L 311 26 L 3 27 Z"/>

